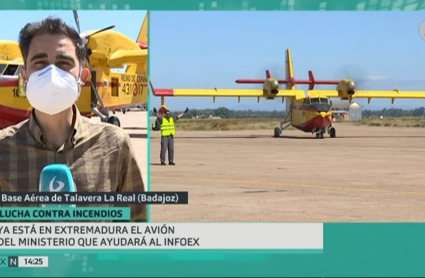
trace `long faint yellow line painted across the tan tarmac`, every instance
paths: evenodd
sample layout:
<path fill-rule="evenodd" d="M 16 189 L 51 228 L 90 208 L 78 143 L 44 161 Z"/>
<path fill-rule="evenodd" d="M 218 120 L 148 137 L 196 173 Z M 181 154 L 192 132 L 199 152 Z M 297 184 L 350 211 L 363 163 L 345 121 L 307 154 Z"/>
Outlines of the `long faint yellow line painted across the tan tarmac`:
<path fill-rule="evenodd" d="M 396 191 L 396 190 L 355 188 L 355 187 L 306 185 L 306 184 L 244 181 L 244 180 L 218 180 L 218 179 L 197 179 L 197 178 L 159 177 L 159 176 L 150 176 L 150 177 L 154 178 L 154 179 L 168 179 L 168 180 L 205 181 L 205 182 L 222 182 L 222 183 L 239 183 L 239 184 L 265 184 L 265 185 L 280 185 L 280 186 L 304 187 L 304 188 L 316 188 L 316 189 L 337 189 L 337 190 L 351 190 L 351 191 L 377 192 L 377 193 L 398 193 L 398 194 L 409 194 L 409 195 L 425 195 L 425 192 Z"/>

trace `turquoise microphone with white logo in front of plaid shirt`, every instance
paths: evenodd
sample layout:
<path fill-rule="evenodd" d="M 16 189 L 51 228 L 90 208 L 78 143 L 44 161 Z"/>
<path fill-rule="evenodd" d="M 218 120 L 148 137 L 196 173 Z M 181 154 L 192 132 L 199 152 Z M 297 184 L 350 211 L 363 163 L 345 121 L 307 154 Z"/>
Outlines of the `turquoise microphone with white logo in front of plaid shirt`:
<path fill-rule="evenodd" d="M 47 165 L 41 171 L 40 192 L 77 192 L 71 170 L 65 164 Z M 75 207 L 75 204 L 43 204 L 43 207 Z"/>

